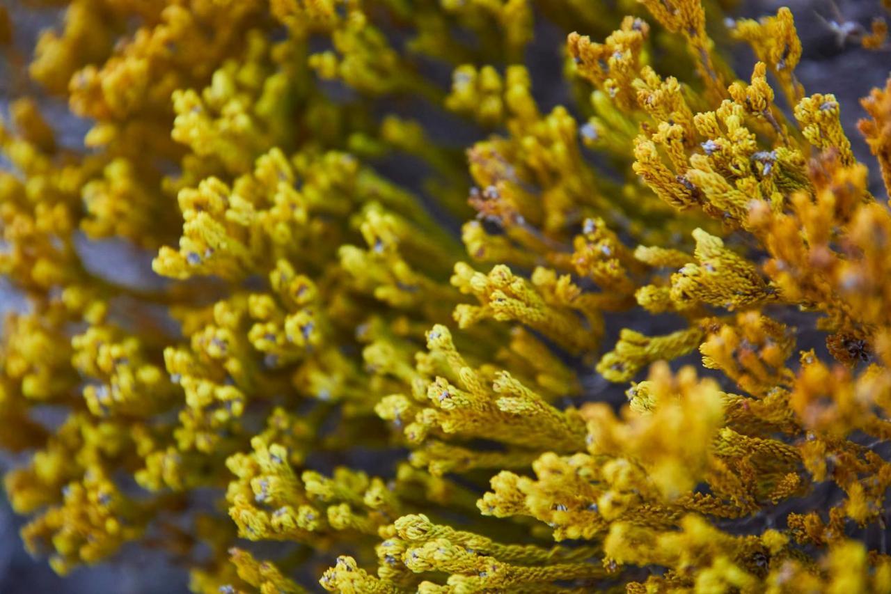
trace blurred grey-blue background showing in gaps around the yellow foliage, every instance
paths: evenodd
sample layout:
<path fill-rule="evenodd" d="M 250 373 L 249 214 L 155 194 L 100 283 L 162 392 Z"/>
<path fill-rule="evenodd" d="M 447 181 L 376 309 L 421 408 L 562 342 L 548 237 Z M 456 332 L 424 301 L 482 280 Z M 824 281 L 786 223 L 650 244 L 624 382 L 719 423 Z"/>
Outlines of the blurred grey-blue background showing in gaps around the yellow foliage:
<path fill-rule="evenodd" d="M 544 0 L 546 1 L 546 0 Z M 61 13 L 53 8 L 35 8 L 24 0 L 0 0 L 13 21 L 14 45 L 20 56 L 27 60 L 40 30 L 61 25 Z M 37 4 L 37 3 L 33 3 Z M 842 105 L 842 121 L 848 131 L 854 153 L 871 167 L 873 186 L 878 183 L 878 168 L 856 132 L 856 122 L 863 116 L 859 98 L 867 95 L 871 87 L 883 86 L 891 69 L 891 51 L 867 52 L 856 41 L 846 38 L 846 23 L 856 23 L 869 29 L 872 18 L 882 15 L 880 0 L 741 0 L 736 14 L 756 18 L 775 13 L 780 6 L 789 6 L 795 15 L 798 34 L 804 45 L 804 56 L 797 69 L 797 76 L 808 93 L 833 93 Z M 887 12 L 884 12 L 889 17 Z M 618 25 L 618 23 L 616 23 Z M 584 33 L 584 31 L 580 31 Z M 536 99 L 545 107 L 565 101 L 565 87 L 560 78 L 560 47 L 563 34 L 543 19 L 536 20 L 535 42 L 527 54 L 527 66 L 531 70 Z M 742 78 L 748 78 L 754 57 L 748 47 L 734 47 L 734 62 Z M 4 118 L 10 100 L 22 89 L 16 87 L 13 71 L 20 70 L 24 62 L 0 57 L 0 114 Z M 55 126 L 62 145 L 78 147 L 88 128 L 87 122 L 69 115 L 65 105 L 43 102 L 45 114 Z M 0 168 L 8 163 L 0 158 Z M 92 248 L 92 249 L 91 249 Z M 113 270 L 115 276 L 127 276 L 151 282 L 149 254 L 139 253 L 119 245 L 114 250 L 84 246 L 88 263 L 103 270 Z M 136 285 L 139 282 L 135 282 Z M 27 304 L 0 279 L 0 313 L 24 309 Z M 2 331 L 2 329 L 0 329 Z M 21 464 L 23 460 L 5 456 L 0 452 L 0 473 Z M 221 518 L 221 521 L 227 521 Z M 113 564 L 75 571 L 66 578 L 53 573 L 44 560 L 32 559 L 22 548 L 18 535 L 24 518 L 15 516 L 0 489 L 0 594 L 174 594 L 187 590 L 187 574 L 182 567 L 170 563 L 157 552 L 135 547 L 127 548 Z"/>

